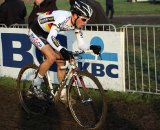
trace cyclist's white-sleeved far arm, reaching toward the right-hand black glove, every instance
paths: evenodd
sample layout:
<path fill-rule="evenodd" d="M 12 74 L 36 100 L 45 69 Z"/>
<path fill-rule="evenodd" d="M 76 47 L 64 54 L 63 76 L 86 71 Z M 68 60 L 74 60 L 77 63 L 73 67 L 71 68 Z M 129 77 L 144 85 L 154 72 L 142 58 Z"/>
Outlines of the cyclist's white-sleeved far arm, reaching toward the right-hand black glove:
<path fill-rule="evenodd" d="M 80 30 L 76 29 L 75 34 L 76 34 L 76 37 L 77 37 L 78 48 L 80 50 L 88 50 L 89 45 L 84 42 L 82 32 Z"/>

